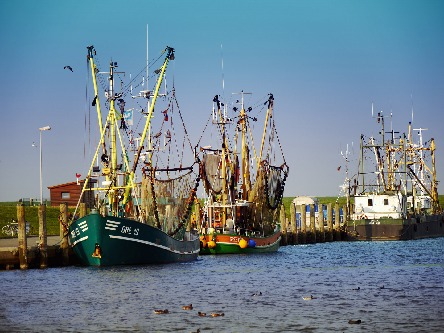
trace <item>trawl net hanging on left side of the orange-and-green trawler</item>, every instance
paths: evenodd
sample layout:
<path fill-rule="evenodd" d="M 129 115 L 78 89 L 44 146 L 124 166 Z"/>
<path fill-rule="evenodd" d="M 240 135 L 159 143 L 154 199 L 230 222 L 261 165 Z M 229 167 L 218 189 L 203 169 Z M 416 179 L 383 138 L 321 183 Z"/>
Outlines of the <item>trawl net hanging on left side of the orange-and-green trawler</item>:
<path fill-rule="evenodd" d="M 228 158 L 228 157 L 227 157 Z M 206 195 L 210 195 L 211 187 L 213 186 L 214 195 L 220 194 L 222 191 L 222 151 L 212 149 L 204 149 L 202 156 L 202 183 L 206 190 Z M 230 176 L 230 168 L 227 168 L 226 178 Z M 214 180 L 215 179 L 215 180 Z"/>

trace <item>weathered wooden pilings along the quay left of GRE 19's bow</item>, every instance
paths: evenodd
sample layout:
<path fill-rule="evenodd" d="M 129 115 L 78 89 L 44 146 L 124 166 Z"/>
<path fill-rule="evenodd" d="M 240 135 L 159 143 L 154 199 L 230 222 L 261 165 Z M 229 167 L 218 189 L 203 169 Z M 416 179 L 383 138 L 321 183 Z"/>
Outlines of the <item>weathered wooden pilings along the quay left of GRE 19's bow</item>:
<path fill-rule="evenodd" d="M 40 268 L 48 267 L 48 239 L 46 233 L 46 204 L 38 204 L 38 214 L 39 214 L 39 247 L 34 250 L 34 256 L 40 257 Z M 63 222 L 60 223 L 60 242 L 59 246 L 56 248 L 56 252 L 61 254 L 61 264 L 63 266 L 69 265 L 69 244 L 68 244 L 68 232 L 65 230 L 68 225 L 68 206 L 67 202 L 60 203 L 59 207 L 59 217 Z M 79 215 L 80 217 L 87 214 L 86 204 L 80 203 L 79 205 Z M 20 258 L 20 269 L 27 270 L 30 264 L 30 259 L 28 254 L 30 248 L 28 248 L 26 240 L 26 216 L 23 203 L 17 205 L 17 223 L 18 223 L 18 235 L 19 235 L 19 258 Z M 9 266 L 6 265 L 6 269 Z"/>

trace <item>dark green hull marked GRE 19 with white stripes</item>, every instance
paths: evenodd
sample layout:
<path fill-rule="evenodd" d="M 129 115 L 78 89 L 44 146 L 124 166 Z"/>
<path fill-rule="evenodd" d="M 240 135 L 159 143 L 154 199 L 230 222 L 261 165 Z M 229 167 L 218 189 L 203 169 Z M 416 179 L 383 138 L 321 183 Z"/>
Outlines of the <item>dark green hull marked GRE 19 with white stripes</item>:
<path fill-rule="evenodd" d="M 200 251 L 199 238 L 182 241 L 144 223 L 99 214 L 74 221 L 69 238 L 80 264 L 87 266 L 190 261 Z"/>

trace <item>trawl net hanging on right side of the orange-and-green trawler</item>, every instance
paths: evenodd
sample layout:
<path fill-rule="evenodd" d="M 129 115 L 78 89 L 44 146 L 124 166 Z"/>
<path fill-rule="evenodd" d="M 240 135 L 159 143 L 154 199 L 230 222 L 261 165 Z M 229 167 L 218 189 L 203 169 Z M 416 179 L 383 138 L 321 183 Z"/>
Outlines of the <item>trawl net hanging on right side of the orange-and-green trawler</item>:
<path fill-rule="evenodd" d="M 257 228 L 263 224 L 264 235 L 268 236 L 274 232 L 276 224 L 279 221 L 279 212 L 281 206 L 281 168 L 268 166 L 268 173 L 264 168 L 260 168 L 259 177 L 250 192 L 250 224 Z M 264 175 L 267 176 L 267 183 Z M 268 186 L 267 186 L 268 185 Z M 268 200 L 267 200 L 268 187 Z M 262 214 L 261 214 L 262 212 Z"/>

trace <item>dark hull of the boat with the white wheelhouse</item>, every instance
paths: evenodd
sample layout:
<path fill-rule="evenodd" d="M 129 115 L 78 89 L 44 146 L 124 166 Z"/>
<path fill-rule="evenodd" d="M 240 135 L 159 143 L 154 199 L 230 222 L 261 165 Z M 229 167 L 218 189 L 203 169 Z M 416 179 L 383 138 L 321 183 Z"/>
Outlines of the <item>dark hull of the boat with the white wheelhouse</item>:
<path fill-rule="evenodd" d="M 444 213 L 417 218 L 348 220 L 345 224 L 345 231 L 349 241 L 442 237 L 444 236 Z"/>

